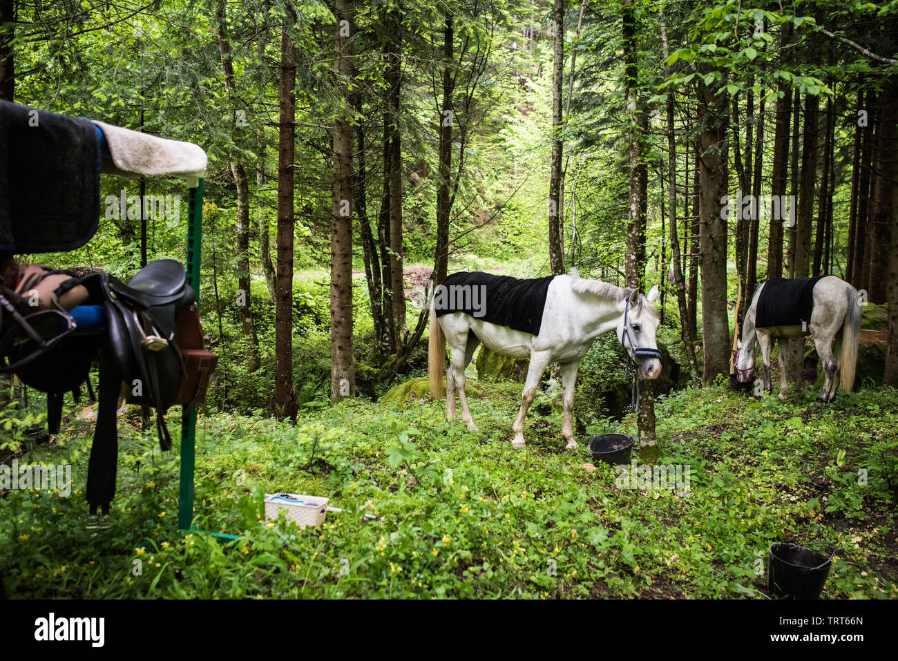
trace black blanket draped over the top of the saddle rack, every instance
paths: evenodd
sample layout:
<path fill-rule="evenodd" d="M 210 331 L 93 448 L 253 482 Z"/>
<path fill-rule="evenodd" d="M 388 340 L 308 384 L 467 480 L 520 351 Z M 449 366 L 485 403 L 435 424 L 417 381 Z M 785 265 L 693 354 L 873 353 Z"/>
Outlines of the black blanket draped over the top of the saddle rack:
<path fill-rule="evenodd" d="M 0 101 L 0 252 L 80 248 L 99 210 L 92 122 Z"/>

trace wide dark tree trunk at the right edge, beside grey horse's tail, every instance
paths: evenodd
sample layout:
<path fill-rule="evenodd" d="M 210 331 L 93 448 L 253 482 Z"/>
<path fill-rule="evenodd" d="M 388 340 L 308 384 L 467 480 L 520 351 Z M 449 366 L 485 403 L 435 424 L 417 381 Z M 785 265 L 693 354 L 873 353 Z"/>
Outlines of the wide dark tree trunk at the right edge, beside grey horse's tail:
<path fill-rule="evenodd" d="M 895 124 L 898 121 L 898 89 L 896 79 L 889 79 L 879 96 L 879 120 L 876 127 L 876 145 L 873 150 L 873 198 L 869 223 L 869 264 L 867 300 L 883 304 L 887 300 L 886 281 L 889 272 L 891 243 L 893 188 L 896 177 L 894 154 L 896 149 Z"/>

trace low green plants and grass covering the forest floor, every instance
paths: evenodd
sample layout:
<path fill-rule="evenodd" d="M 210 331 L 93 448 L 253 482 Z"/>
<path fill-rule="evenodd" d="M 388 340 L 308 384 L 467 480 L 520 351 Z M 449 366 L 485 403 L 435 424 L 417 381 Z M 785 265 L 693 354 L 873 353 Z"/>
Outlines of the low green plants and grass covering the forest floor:
<path fill-rule="evenodd" d="M 565 452 L 548 403 L 532 410 L 527 446 L 514 450 L 520 386 L 480 386 L 485 396 L 471 398 L 477 432 L 446 423 L 443 404 L 431 401 L 391 409 L 346 401 L 305 411 L 297 427 L 200 418 L 196 524 L 241 535 L 231 547 L 174 531 L 178 455 L 160 453 L 136 421 L 120 427 L 110 528 L 85 529 L 92 425 L 69 422 L 52 445 L 18 459 L 72 463 L 72 496 L 0 498 L 6 589 L 86 598 L 767 598 L 770 542 L 813 540 L 834 545 L 824 597 L 898 596 L 898 392 L 840 395 L 828 407 L 809 391 L 784 403 L 722 386 L 661 398 L 660 463 L 689 466 L 686 492 L 624 489 L 612 467 L 593 467 L 585 438 L 598 428 Z M 304 531 L 266 522 L 260 501 L 271 491 L 327 496 L 344 511 Z M 380 518 L 363 521 L 365 513 Z"/>

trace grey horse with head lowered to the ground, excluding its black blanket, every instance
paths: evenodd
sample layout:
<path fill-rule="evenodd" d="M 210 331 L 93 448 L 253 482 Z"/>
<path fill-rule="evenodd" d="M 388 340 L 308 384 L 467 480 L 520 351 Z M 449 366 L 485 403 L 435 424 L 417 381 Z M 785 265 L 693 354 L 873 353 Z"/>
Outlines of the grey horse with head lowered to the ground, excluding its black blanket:
<path fill-rule="evenodd" d="M 764 288 L 762 283 L 754 290 L 752 304 L 745 313 L 742 341 L 736 345 L 735 357 L 736 380 L 742 383 L 751 382 L 754 373 L 755 342 L 761 345 L 764 362 L 764 388 L 771 389 L 770 384 L 770 350 L 773 342 L 779 340 L 779 399 L 786 399 L 787 372 L 786 348 L 788 338 L 804 338 L 807 332 L 800 324 L 796 326 L 771 326 L 756 328 L 755 315 L 758 298 Z M 823 363 L 823 390 L 817 399 L 830 402 L 841 387 L 851 392 L 854 387 L 854 372 L 858 363 L 858 339 L 860 337 L 860 303 L 858 291 L 841 278 L 826 276 L 814 285 L 814 308 L 811 313 L 811 324 L 808 329 L 814 338 L 817 356 Z M 836 358 L 832 351 L 832 340 L 835 339 Z"/>

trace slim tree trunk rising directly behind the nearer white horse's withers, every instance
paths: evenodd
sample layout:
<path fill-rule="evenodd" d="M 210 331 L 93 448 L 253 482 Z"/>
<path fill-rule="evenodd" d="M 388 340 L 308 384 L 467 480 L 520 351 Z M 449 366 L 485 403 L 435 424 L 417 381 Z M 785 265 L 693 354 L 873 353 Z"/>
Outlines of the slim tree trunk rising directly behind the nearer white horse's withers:
<path fill-rule="evenodd" d="M 561 99 L 564 78 L 564 0 L 554 0 L 552 40 L 552 161 L 549 181 L 549 265 L 552 273 L 564 273 L 564 244 L 561 239 Z"/>

